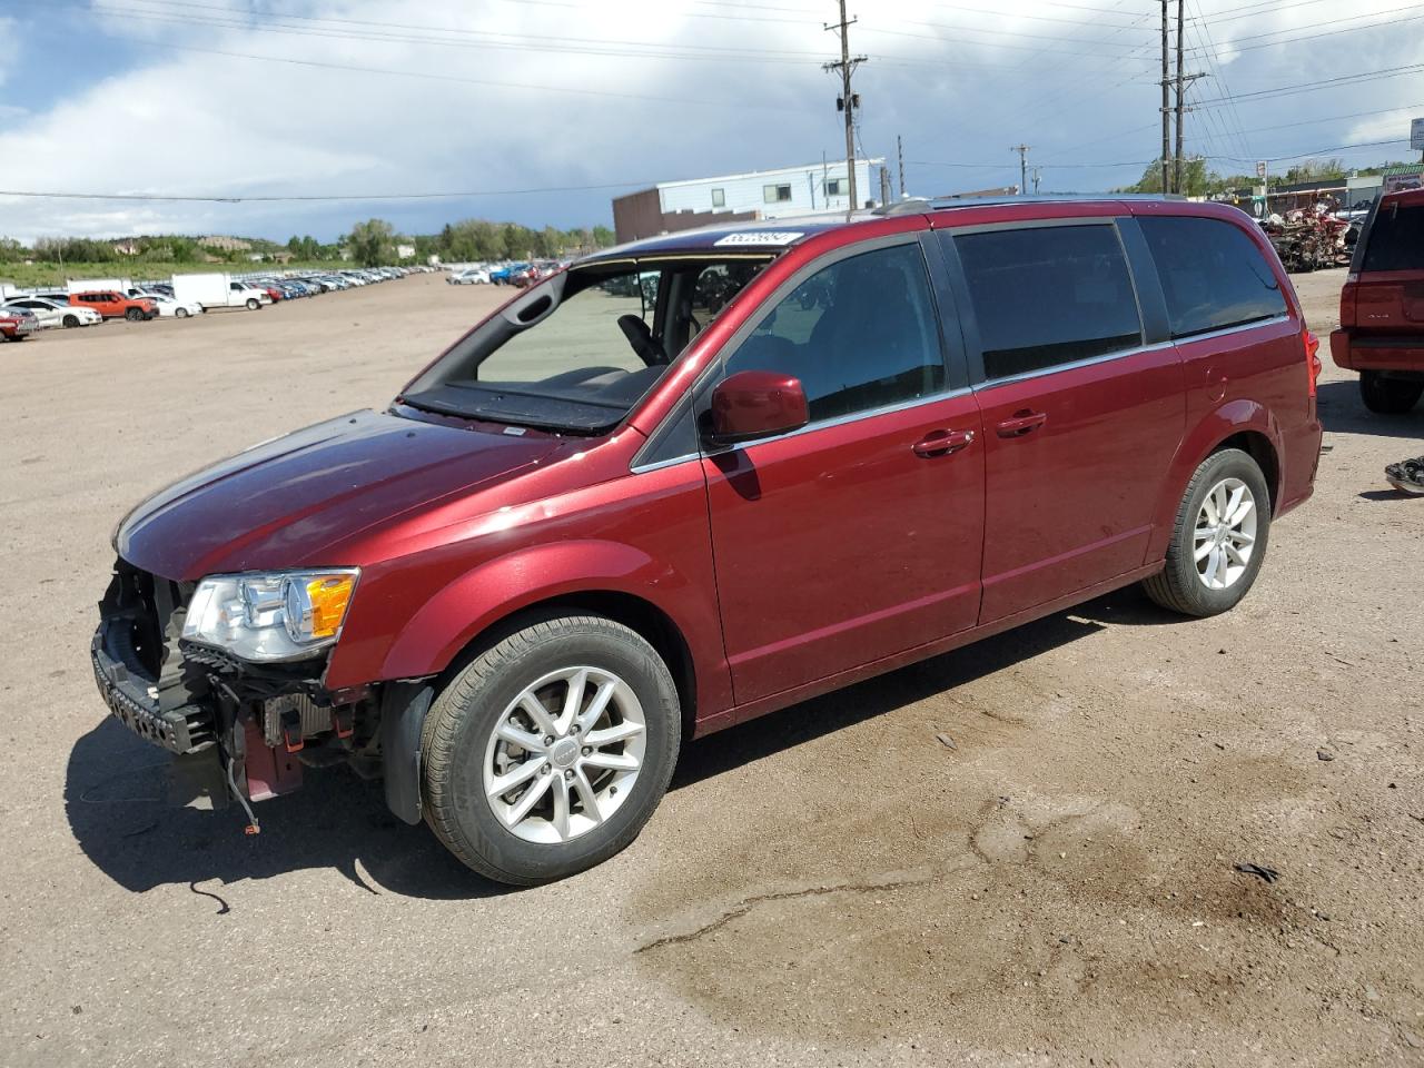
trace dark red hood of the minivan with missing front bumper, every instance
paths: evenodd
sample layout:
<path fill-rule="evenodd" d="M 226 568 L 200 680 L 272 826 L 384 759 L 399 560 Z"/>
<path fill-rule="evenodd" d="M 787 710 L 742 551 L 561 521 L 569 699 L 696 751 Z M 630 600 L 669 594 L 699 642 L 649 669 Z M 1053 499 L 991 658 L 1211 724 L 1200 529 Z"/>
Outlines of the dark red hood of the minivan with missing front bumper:
<path fill-rule="evenodd" d="M 446 494 L 507 478 L 561 439 L 356 412 L 189 474 L 134 508 L 114 547 L 175 581 L 360 564 L 322 551 Z"/>

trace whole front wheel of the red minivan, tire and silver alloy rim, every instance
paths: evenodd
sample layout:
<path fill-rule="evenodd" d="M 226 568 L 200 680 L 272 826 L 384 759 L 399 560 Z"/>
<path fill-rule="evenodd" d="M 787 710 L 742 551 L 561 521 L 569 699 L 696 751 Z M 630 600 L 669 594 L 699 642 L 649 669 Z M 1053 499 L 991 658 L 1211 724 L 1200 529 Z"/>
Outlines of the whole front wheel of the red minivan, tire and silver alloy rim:
<path fill-rule="evenodd" d="M 503 883 L 582 871 L 646 823 L 681 725 L 672 676 L 635 631 L 598 615 L 531 622 L 476 656 L 430 708 L 426 822 Z"/>

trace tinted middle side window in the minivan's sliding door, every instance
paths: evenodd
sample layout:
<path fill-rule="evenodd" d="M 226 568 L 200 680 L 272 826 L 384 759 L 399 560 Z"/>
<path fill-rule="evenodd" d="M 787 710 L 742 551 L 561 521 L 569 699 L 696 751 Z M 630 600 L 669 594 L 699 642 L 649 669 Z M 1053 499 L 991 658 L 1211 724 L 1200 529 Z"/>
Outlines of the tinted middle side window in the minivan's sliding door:
<path fill-rule="evenodd" d="M 978 319 L 987 379 L 1142 343 L 1115 226 L 1001 229 L 953 241 Z"/>

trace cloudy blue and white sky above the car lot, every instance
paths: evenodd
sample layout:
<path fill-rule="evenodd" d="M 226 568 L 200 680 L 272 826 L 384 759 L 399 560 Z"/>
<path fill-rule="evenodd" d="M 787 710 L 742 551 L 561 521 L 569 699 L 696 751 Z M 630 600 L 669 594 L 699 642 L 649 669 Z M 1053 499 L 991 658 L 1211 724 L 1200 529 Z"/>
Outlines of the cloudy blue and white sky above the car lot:
<path fill-rule="evenodd" d="M 1172 1 L 1175 14 L 1176 3 Z M 484 216 L 611 222 L 654 181 L 843 152 L 832 0 L 0 0 L 0 235 L 332 239 Z M 1012 11 L 1011 14 L 1008 11 Z M 1135 181 L 1158 152 L 1156 0 L 853 0 L 860 142 L 909 192 Z M 1413 158 L 1424 3 L 1186 0 L 1188 150 Z M 1326 80 L 1331 80 L 1329 84 Z M 1398 142 L 1404 138 L 1404 142 Z M 1380 144 L 1377 144 L 1380 142 Z M 1393 144 L 1384 144 L 1393 142 Z M 439 199 L 320 199 L 446 194 Z"/>

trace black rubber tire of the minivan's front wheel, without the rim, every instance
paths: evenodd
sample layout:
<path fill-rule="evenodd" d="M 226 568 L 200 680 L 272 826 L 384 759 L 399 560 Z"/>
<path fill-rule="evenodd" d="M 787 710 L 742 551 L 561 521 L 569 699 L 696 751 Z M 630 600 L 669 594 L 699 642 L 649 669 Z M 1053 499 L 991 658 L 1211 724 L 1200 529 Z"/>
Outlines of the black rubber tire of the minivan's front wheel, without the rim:
<path fill-rule="evenodd" d="M 525 686 L 571 666 L 608 671 L 631 688 L 645 719 L 642 765 L 629 793 L 601 824 L 561 843 L 527 842 L 486 797 L 490 738 Z M 564 879 L 602 863 L 638 836 L 668 789 L 681 735 L 672 675 L 635 631 L 598 615 L 530 622 L 470 661 L 436 698 L 422 738 L 426 823 L 456 857 L 488 879 L 515 886 Z M 557 779 L 558 770 L 553 775 Z M 550 790 L 557 782 L 551 783 Z"/>

